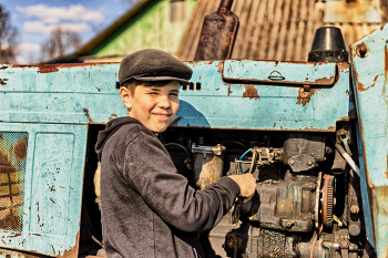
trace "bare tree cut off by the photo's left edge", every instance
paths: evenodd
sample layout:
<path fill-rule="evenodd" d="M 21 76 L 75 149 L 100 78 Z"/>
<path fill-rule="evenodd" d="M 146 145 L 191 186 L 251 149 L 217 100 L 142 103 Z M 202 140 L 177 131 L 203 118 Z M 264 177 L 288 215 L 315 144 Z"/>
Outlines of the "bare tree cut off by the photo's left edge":
<path fill-rule="evenodd" d="M 10 16 L 0 4 L 0 63 L 16 62 L 18 31 L 10 24 Z"/>

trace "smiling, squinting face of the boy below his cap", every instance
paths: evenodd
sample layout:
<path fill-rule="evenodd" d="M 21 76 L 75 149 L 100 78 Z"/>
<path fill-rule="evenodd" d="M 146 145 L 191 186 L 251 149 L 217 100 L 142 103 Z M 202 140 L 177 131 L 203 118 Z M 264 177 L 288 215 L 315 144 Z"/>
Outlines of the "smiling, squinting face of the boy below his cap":
<path fill-rule="evenodd" d="M 162 86 L 137 85 L 133 95 L 126 87 L 121 87 L 120 95 L 130 116 L 152 132 L 162 133 L 173 122 L 180 109 L 178 91 L 180 82 L 171 81 Z"/>

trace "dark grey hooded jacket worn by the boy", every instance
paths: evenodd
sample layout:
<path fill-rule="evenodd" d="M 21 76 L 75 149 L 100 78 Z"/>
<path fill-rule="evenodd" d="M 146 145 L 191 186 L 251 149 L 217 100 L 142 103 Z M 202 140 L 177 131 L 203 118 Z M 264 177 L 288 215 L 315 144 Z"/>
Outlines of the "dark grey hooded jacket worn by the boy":
<path fill-rule="evenodd" d="M 195 190 L 162 141 L 132 117 L 110 121 L 95 149 L 108 257 L 204 257 L 197 233 L 231 209 L 239 194 L 233 179 Z"/>

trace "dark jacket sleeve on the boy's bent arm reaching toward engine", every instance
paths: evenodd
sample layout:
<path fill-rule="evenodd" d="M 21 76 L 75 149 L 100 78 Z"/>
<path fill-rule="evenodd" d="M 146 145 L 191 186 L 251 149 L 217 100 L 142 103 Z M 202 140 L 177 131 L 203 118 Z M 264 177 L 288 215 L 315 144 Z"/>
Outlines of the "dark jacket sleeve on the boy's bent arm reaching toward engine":
<path fill-rule="evenodd" d="M 212 229 L 239 194 L 228 177 L 201 192 L 192 188 L 153 135 L 137 136 L 126 146 L 123 176 L 163 220 L 183 231 Z"/>

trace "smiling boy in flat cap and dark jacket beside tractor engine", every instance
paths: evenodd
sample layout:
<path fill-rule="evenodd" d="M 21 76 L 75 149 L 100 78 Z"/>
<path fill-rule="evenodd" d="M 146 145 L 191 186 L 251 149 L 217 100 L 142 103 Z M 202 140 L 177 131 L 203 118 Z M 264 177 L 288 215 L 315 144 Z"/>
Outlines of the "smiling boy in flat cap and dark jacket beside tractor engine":
<path fill-rule="evenodd" d="M 251 174 L 223 177 L 201 192 L 188 186 L 160 133 L 178 110 L 180 84 L 192 70 L 160 50 L 141 50 L 120 64 L 120 95 L 127 117 L 99 134 L 101 209 L 106 255 L 204 257 L 197 233 L 212 229 L 235 198 L 252 197 Z"/>

